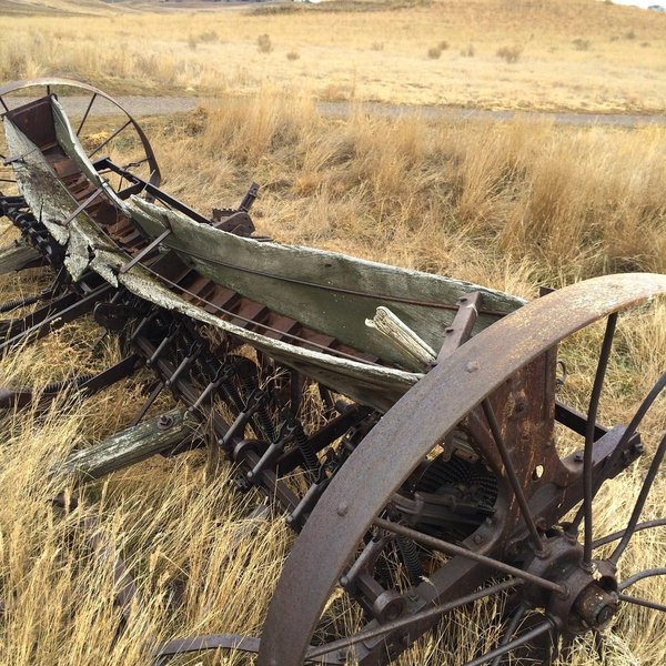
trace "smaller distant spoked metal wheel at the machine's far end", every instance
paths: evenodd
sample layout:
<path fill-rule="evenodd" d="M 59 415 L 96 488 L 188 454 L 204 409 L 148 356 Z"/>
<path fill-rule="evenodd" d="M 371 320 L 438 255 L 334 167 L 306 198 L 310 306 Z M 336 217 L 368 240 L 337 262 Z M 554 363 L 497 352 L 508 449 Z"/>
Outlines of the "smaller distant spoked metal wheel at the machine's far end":
<path fill-rule="evenodd" d="M 36 103 L 33 120 L 39 125 L 41 121 L 37 102 L 49 95 L 56 95 L 68 118 L 72 120 L 72 129 L 93 163 L 119 147 L 122 148 L 122 154 L 127 160 L 122 171 L 131 170 L 134 176 L 151 185 L 160 184 L 160 168 L 139 123 L 120 102 L 92 85 L 60 78 L 14 81 L 0 87 L 0 115 L 10 113 L 14 107 L 33 101 Z M 51 123 L 41 124 L 49 127 Z M 8 155 L 4 152 L 6 149 L 0 150 L 4 162 L 11 164 L 12 160 L 20 159 L 20 155 Z M 104 175 L 103 164 L 98 164 L 98 170 Z M 4 173 L 2 178 L 7 181 L 11 180 L 9 173 Z M 118 173 L 114 178 L 110 178 L 109 182 L 117 192 L 134 184 L 129 173 Z"/>

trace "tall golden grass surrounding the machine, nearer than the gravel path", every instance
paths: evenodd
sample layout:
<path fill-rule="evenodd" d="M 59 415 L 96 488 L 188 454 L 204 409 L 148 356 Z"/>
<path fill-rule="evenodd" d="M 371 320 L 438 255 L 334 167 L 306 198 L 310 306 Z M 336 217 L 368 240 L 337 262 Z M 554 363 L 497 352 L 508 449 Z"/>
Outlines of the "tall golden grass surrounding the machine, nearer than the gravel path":
<path fill-rule="evenodd" d="M 280 241 L 528 297 L 542 283 L 561 286 L 610 271 L 666 272 L 663 129 L 563 129 L 527 118 L 448 124 L 417 114 L 373 118 L 362 105 L 349 120 L 335 121 L 320 117 L 310 99 L 269 88 L 246 99 L 220 97 L 148 128 L 170 192 L 205 212 L 240 199 L 256 180 L 263 188 L 253 216 L 261 232 Z M 122 162 L 132 145 L 113 150 Z M 43 284 L 36 271 L 2 276 L 2 300 L 36 289 L 36 280 Z M 563 350 L 571 373 L 564 396 L 581 407 L 601 334 L 593 327 Z M 0 383 L 43 385 L 54 374 L 118 359 L 113 344 L 95 353 L 92 345 L 90 323 L 71 324 L 3 359 Z M 665 370 L 665 304 L 623 316 L 616 350 L 601 420 L 626 423 Z M 65 514 L 51 504 L 56 494 L 75 492 L 74 480 L 49 474 L 53 465 L 73 447 L 122 427 L 140 401 L 134 382 L 84 403 L 64 401 L 46 415 L 2 415 L 1 664 L 143 665 L 151 647 L 167 638 L 259 635 L 292 536 L 280 517 L 246 517 L 260 498 L 231 492 L 232 471 L 223 461 L 201 452 L 150 460 L 90 486 L 88 507 Z M 596 534 L 624 526 L 666 430 L 665 407 L 662 398 L 646 418 L 644 458 L 599 495 Z M 662 478 L 645 518 L 660 514 L 665 491 Z M 93 556 L 81 528 L 92 516 L 94 531 L 123 555 L 137 581 L 140 601 L 122 634 L 111 562 Z M 642 533 L 620 573 L 658 566 L 665 554 L 660 532 Z M 640 594 L 666 601 L 658 579 L 642 584 Z M 178 609 L 176 596 L 184 603 Z M 349 610 L 340 622 L 351 623 L 353 615 Z M 659 614 L 624 608 L 608 634 L 607 663 L 663 664 L 665 629 Z M 498 632 L 491 602 L 448 617 L 441 633 L 425 637 L 400 664 L 463 664 L 480 644 L 491 647 Z M 251 659 L 226 654 L 178 663 Z M 598 663 L 589 642 L 576 645 L 573 663 Z"/>

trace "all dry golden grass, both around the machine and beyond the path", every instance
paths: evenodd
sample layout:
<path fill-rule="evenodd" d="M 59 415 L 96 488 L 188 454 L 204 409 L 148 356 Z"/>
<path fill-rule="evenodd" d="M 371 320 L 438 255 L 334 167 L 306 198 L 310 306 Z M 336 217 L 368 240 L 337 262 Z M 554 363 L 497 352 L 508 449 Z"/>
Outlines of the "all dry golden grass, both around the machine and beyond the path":
<path fill-rule="evenodd" d="M 377 11 L 377 4 L 261 14 L 134 8 L 131 14 L 112 8 L 109 17 L 33 13 L 11 19 L 16 33 L 0 42 L 0 80 L 58 72 L 117 91 L 213 92 L 214 101 L 193 113 L 143 122 L 164 186 L 206 213 L 236 203 L 258 181 L 253 219 L 279 241 L 454 275 L 528 299 L 542 284 L 558 287 L 624 271 L 666 273 L 666 129 L 563 128 L 526 118 L 450 123 L 426 121 L 417 111 L 382 119 L 361 103 L 349 119 L 332 120 L 316 112 L 312 99 L 663 111 L 663 17 L 578 0 L 405 2 L 391 11 Z M 0 0 L 3 31 L 7 6 Z M 52 7 L 54 13 L 69 11 L 58 0 Z M 261 34 L 272 47 L 264 53 Z M 589 43 L 576 47 L 576 39 Z M 443 40 L 448 48 L 428 57 Z M 470 44 L 474 54 L 462 56 Z M 522 48 L 516 62 L 496 56 L 514 46 Z M 290 52 L 299 58 L 290 60 Z M 427 82 L 422 97 L 413 88 L 418 82 Z M 92 123 L 84 140 L 99 142 L 112 127 L 110 120 Z M 118 141 L 112 157 L 123 163 L 134 148 Z M 0 178 L 4 173 L 0 168 Z M 4 244 L 13 231 L 1 224 Z M 37 270 L 2 275 L 0 301 L 33 293 L 49 279 Z M 569 366 L 563 397 L 579 408 L 602 334 L 594 327 L 563 351 Z M 91 321 L 67 325 L 2 359 L 0 386 L 43 386 L 118 360 L 117 344 L 97 344 L 98 337 Z M 666 370 L 666 303 L 620 317 L 615 349 L 599 420 L 626 424 Z M 246 518 L 260 497 L 232 493 L 231 470 L 212 453 L 155 457 L 117 473 L 90 485 L 88 506 L 69 515 L 50 502 L 75 492 L 71 476 L 50 473 L 53 465 L 127 425 L 148 377 L 85 402 L 63 401 L 46 415 L 0 415 L 2 666 L 143 666 L 150 647 L 164 639 L 260 634 L 293 537 L 281 518 Z M 170 406 L 164 398 L 154 410 Z M 665 431 L 662 397 L 642 428 L 646 455 L 606 484 L 595 504 L 595 534 L 624 527 Z M 662 474 L 644 518 L 663 515 L 665 503 Z M 108 553 L 122 553 L 138 585 L 140 601 L 120 637 L 113 567 L 92 556 L 82 531 L 92 519 L 93 534 L 105 539 Z M 663 529 L 642 533 L 620 576 L 663 566 L 665 556 Z M 657 578 L 636 592 L 666 603 Z M 182 606 L 173 603 L 176 596 Z M 662 666 L 665 630 L 663 614 L 623 608 L 607 634 L 606 664 Z M 497 633 L 493 604 L 453 614 L 400 664 L 460 666 Z M 213 663 L 251 662 L 239 654 L 176 662 Z M 573 664 L 599 664 L 591 642 L 576 644 Z"/>

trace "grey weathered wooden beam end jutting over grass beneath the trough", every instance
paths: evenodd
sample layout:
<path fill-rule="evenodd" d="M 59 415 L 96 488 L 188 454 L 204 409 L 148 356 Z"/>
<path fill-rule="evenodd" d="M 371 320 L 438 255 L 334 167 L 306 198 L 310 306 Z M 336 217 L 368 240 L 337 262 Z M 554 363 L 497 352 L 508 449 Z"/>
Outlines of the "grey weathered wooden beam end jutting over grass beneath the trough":
<path fill-rule="evenodd" d="M 84 480 L 100 478 L 111 472 L 168 451 L 191 435 L 195 422 L 182 408 L 128 427 L 95 446 L 75 451 L 52 472 L 74 473 Z"/>

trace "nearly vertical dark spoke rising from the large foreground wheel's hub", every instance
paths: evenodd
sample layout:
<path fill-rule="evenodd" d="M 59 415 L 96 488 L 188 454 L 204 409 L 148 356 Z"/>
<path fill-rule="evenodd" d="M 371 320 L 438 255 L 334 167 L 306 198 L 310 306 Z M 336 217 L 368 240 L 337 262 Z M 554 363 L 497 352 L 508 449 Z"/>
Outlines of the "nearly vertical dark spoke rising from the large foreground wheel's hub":
<path fill-rule="evenodd" d="M 613 336 L 615 335 L 615 326 L 617 324 L 617 313 L 608 315 L 602 351 L 597 363 L 597 370 L 594 376 L 594 385 L 592 395 L 589 396 L 589 407 L 587 410 L 587 427 L 585 428 L 585 451 L 583 453 L 583 513 L 584 513 L 584 539 L 583 539 L 583 566 L 592 567 L 592 542 L 593 534 L 593 506 L 594 500 L 594 480 L 593 480 L 593 461 L 592 450 L 594 446 L 595 424 L 602 389 L 604 387 L 604 377 L 606 376 L 606 367 L 610 356 L 610 347 L 613 346 Z"/>

